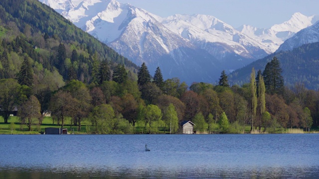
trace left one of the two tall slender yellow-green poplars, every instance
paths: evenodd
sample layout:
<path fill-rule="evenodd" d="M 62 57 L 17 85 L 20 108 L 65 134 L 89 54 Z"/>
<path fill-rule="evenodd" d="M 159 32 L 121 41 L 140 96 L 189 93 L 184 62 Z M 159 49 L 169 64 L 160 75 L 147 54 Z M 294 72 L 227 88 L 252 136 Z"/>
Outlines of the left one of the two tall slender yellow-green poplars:
<path fill-rule="evenodd" d="M 257 87 L 255 81 L 255 69 L 252 69 L 250 74 L 250 92 L 251 92 L 251 128 L 250 131 L 253 131 L 254 127 L 254 118 L 256 117 L 257 110 Z"/>

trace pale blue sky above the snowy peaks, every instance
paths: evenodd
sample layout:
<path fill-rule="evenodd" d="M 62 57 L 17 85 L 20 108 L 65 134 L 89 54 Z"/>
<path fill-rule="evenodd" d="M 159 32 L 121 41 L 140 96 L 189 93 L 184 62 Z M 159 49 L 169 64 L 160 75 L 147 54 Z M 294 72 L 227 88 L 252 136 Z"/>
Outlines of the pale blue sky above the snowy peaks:
<path fill-rule="evenodd" d="M 268 28 L 295 12 L 319 15 L 319 0 L 117 0 L 161 17 L 173 14 L 213 15 L 237 28 L 243 24 Z"/>

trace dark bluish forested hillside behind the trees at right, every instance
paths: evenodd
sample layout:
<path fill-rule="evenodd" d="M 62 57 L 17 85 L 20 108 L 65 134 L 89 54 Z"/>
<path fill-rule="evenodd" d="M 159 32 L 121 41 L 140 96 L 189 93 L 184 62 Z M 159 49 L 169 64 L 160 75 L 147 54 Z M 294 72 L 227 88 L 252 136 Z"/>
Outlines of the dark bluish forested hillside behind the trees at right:
<path fill-rule="evenodd" d="M 278 52 L 257 60 L 229 75 L 230 84 L 243 85 L 249 82 L 252 67 L 264 70 L 266 64 L 276 56 L 283 69 L 286 86 L 304 83 L 308 89 L 319 89 L 319 43 L 306 44 L 292 51 Z"/>

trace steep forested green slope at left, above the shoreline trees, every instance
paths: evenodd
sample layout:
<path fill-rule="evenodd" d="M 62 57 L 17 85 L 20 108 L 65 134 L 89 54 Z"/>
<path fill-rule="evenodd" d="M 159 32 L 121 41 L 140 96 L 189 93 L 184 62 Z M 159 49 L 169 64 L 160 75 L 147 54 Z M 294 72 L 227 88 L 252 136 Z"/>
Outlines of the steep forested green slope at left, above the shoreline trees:
<path fill-rule="evenodd" d="M 138 69 L 37 0 L 0 1 L 0 44 L 0 79 L 15 78 L 24 57 L 32 61 L 38 80 L 43 80 L 45 73 L 56 72 L 67 80 L 72 71 L 78 80 L 91 83 L 94 66 L 103 60 L 109 61 L 111 69 L 125 64 L 132 71 L 131 78 L 136 78 Z M 54 78 L 61 81 L 57 75 Z"/>

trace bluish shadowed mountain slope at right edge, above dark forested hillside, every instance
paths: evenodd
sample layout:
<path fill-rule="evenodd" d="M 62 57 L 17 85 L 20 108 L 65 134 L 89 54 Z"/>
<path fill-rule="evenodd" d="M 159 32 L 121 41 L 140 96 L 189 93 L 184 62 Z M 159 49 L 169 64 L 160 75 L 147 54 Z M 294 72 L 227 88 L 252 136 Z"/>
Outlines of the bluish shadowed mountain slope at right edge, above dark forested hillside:
<path fill-rule="evenodd" d="M 314 25 L 297 32 L 293 37 L 281 44 L 277 51 L 288 51 L 304 44 L 315 42 L 319 42 L 319 21 Z"/>

